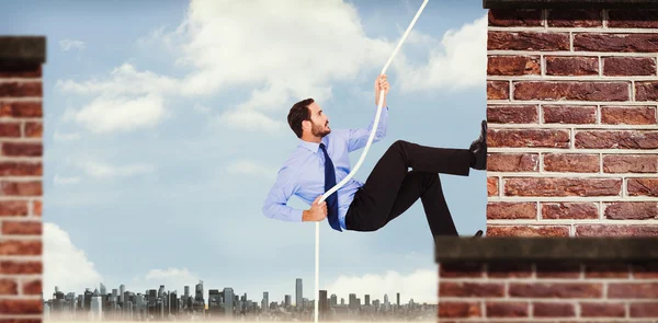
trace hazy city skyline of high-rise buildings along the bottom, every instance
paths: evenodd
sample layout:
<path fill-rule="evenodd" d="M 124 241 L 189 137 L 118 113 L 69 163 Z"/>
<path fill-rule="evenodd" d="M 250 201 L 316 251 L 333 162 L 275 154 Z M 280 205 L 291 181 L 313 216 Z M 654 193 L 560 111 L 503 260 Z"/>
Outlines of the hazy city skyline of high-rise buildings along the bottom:
<path fill-rule="evenodd" d="M 55 287 L 50 299 L 44 298 L 44 318 L 49 320 L 73 320 L 73 321 L 178 321 L 181 316 L 190 320 L 201 319 L 256 319 L 257 321 L 280 321 L 295 319 L 298 321 L 310 321 L 315 315 L 315 299 L 303 297 L 300 289 L 303 280 L 295 279 L 295 303 L 291 302 L 292 295 L 284 295 L 284 299 L 271 301 L 269 291 L 263 291 L 262 299 L 252 301 L 247 292 L 241 296 L 231 287 L 223 289 L 207 288 L 207 298 L 204 296 L 204 281 L 194 285 L 194 293 L 190 292 L 190 285 L 183 286 L 184 292 L 180 295 L 177 289 L 167 289 L 160 285 L 158 289 L 151 288 L 143 292 L 132 291 L 125 285 L 112 288 L 109 292 L 103 282 L 98 287 L 86 288 L 82 293 L 75 291 L 65 292 Z M 318 314 L 320 321 L 333 321 L 343 319 L 375 319 L 375 318 L 430 318 L 435 311 L 435 305 L 417 304 L 411 299 L 407 303 L 400 302 L 400 293 L 396 292 L 396 302 L 388 300 L 384 295 L 384 301 L 375 298 L 371 302 L 370 295 L 362 298 L 356 293 L 350 293 L 345 303 L 343 297 L 329 293 L 328 290 L 319 290 Z M 260 307 L 259 307 L 260 303 Z M 196 319 L 195 319 L 196 318 Z"/>

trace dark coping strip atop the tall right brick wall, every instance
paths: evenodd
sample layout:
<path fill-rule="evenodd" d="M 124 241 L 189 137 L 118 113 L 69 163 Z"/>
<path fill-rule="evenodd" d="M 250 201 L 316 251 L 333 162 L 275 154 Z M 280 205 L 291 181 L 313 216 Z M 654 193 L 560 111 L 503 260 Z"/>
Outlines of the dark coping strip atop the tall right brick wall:
<path fill-rule="evenodd" d="M 658 1 L 657 0 L 483 0 L 483 8 L 484 9 L 658 9 Z"/>

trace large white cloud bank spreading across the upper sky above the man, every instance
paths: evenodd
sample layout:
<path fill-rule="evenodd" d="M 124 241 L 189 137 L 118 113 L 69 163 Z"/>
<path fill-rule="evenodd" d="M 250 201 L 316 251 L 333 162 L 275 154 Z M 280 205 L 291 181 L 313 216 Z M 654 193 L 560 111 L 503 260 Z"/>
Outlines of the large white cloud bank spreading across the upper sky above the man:
<path fill-rule="evenodd" d="M 406 28 L 413 13 L 397 23 Z M 485 16 L 440 41 L 413 30 L 393 61 L 390 69 L 399 77 L 392 84 L 400 84 L 404 92 L 484 84 L 486 26 Z M 343 1 L 193 0 L 174 31 L 158 27 L 137 41 L 170 49 L 178 57 L 172 67 L 186 69 L 185 76 L 172 78 L 124 64 L 106 79 L 61 80 L 57 85 L 64 92 L 97 95 L 72 119 L 99 134 L 155 126 L 174 96 L 212 96 L 247 86 L 249 94 L 217 111 L 213 120 L 272 132 L 284 126 L 273 122 L 274 112 L 306 97 L 329 100 L 332 84 L 353 83 L 364 71 L 374 79 L 404 31 L 390 39 L 368 37 L 356 9 Z M 409 61 L 404 51 L 411 46 L 430 48 L 429 60 Z"/>

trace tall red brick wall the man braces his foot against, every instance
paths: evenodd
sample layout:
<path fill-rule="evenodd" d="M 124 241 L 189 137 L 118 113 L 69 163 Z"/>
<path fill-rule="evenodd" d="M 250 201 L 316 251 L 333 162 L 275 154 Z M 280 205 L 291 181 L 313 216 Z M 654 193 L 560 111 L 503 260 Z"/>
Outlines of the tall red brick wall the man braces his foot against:
<path fill-rule="evenodd" d="M 657 235 L 658 10 L 491 9 L 487 56 L 487 235 Z"/>

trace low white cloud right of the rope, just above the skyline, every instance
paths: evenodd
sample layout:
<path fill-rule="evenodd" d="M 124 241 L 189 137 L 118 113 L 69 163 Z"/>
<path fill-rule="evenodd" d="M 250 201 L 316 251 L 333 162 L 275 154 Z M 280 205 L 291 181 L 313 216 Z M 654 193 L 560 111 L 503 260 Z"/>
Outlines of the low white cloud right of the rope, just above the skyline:
<path fill-rule="evenodd" d="M 322 289 L 331 290 L 338 298 L 347 297 L 359 291 L 360 295 L 370 295 L 371 299 L 384 302 L 384 295 L 388 295 L 390 302 L 396 301 L 396 293 L 400 293 L 400 303 L 413 299 L 415 303 L 436 303 L 436 286 L 439 278 L 436 269 L 417 269 L 409 275 L 401 275 L 394 270 L 386 274 L 367 274 L 358 276 L 340 276 L 337 280 L 326 285 Z M 359 296 L 362 298 L 363 297 Z"/>

